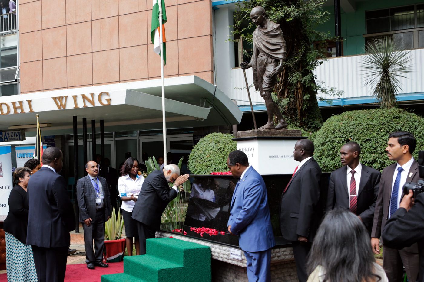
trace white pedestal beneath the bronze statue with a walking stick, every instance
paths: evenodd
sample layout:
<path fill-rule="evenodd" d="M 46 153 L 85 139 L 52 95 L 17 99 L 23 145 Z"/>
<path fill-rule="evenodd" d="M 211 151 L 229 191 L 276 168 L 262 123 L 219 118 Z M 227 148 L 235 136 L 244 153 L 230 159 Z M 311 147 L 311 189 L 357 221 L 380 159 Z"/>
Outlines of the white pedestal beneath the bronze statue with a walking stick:
<path fill-rule="evenodd" d="M 300 130 L 248 130 L 238 131 L 234 141 L 237 150 L 245 152 L 249 164 L 261 175 L 292 174 L 299 164 L 293 159 L 294 145 L 301 136 Z"/>

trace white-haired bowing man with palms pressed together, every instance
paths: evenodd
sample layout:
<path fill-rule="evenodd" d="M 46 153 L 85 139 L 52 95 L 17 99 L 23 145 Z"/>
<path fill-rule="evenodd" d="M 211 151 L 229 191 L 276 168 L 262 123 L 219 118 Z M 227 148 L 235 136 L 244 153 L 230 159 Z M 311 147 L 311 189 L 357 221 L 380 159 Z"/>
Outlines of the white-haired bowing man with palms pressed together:
<path fill-rule="evenodd" d="M 166 165 L 163 170 L 155 170 L 146 177 L 135 202 L 132 218 L 138 222 L 140 254 L 146 254 L 146 239 L 155 238 L 156 230 L 165 207 L 178 194 L 178 187 L 188 179 L 189 175 L 180 175 L 175 164 Z M 173 182 L 169 188 L 168 182 Z"/>

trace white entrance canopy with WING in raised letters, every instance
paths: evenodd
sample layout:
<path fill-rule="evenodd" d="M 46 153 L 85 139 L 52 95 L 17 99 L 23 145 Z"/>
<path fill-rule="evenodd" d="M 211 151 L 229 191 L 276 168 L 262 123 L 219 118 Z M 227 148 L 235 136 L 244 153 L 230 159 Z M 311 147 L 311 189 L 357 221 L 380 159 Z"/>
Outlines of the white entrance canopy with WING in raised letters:
<path fill-rule="evenodd" d="M 0 130 L 48 124 L 43 135 L 72 133 L 73 116 L 104 120 L 105 131 L 162 128 L 161 80 L 144 80 L 0 97 Z M 196 76 L 165 79 L 167 127 L 239 124 L 242 112 Z M 26 129 L 33 135 L 34 128 Z M 31 134 L 33 132 L 33 134 Z"/>

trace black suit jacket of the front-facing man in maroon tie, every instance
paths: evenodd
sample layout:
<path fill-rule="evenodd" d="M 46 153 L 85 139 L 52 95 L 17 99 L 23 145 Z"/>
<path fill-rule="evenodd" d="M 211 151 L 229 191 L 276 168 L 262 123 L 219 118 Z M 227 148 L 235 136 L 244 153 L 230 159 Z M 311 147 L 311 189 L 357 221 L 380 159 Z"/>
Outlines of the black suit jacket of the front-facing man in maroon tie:
<path fill-rule="evenodd" d="M 371 232 L 374 219 L 381 173 L 362 165 L 361 180 L 357 195 L 357 215 Z M 347 166 L 333 171 L 330 175 L 326 210 L 350 208 L 349 188 L 347 187 Z M 349 176 L 350 180 L 350 176 Z"/>

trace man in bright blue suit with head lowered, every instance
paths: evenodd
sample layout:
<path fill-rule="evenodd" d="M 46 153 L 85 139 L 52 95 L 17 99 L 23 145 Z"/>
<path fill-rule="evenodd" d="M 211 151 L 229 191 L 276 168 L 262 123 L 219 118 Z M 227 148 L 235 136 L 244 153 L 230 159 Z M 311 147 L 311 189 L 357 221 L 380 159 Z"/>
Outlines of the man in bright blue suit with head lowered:
<path fill-rule="evenodd" d="M 265 182 L 246 154 L 232 151 L 227 166 L 237 182 L 231 200 L 228 232 L 239 235 L 239 245 L 247 260 L 249 282 L 271 281 L 271 248 L 275 246 Z"/>

